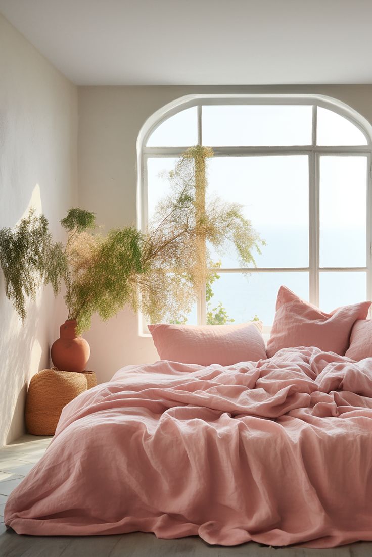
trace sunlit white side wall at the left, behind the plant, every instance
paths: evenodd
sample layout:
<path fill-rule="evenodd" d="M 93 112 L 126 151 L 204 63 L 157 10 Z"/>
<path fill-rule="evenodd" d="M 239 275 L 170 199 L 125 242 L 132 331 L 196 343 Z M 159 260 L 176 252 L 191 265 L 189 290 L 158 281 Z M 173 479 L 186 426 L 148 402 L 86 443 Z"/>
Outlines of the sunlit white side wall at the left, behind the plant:
<path fill-rule="evenodd" d="M 78 203 L 77 110 L 76 87 L 0 15 L 0 227 L 14 226 L 32 204 L 61 236 L 60 219 Z M 0 272 L 0 446 L 24 431 L 27 382 L 49 367 L 62 320 L 47 289 L 22 326 Z"/>

